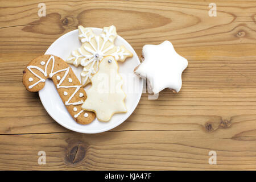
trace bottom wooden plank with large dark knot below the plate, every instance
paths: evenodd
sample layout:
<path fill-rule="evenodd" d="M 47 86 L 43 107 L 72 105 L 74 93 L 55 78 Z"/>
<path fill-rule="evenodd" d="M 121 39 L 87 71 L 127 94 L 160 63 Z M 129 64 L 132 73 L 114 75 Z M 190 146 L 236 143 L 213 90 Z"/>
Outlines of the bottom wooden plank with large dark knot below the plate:
<path fill-rule="evenodd" d="M 230 131 L 239 130 L 240 126 Z M 220 130 L 212 134 L 122 131 L 95 135 L 2 135 L 0 169 L 255 169 L 253 141 L 226 138 L 228 133 Z M 217 165 L 208 163 L 211 150 L 217 152 Z M 38 164 L 39 151 L 46 152 L 45 165 Z"/>

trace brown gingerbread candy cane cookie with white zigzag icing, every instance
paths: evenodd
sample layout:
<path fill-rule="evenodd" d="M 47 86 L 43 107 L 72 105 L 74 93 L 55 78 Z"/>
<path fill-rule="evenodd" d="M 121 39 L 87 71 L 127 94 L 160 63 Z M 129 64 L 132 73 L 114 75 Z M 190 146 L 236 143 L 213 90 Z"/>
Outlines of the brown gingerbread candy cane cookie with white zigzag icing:
<path fill-rule="evenodd" d="M 84 88 L 71 67 L 60 57 L 53 55 L 36 57 L 23 71 L 23 85 L 30 92 L 43 89 L 47 78 L 51 78 L 61 100 L 77 123 L 86 125 L 94 120 L 93 112 L 81 108 L 86 99 Z"/>

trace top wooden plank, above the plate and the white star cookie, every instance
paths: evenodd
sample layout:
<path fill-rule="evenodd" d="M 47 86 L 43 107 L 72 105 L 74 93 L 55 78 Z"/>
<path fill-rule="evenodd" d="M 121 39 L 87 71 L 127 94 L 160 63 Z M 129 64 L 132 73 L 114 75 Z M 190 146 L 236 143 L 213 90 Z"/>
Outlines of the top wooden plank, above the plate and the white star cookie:
<path fill-rule="evenodd" d="M 255 43 L 253 1 L 236 1 L 236 6 L 234 2 L 217 1 L 217 17 L 208 15 L 209 2 L 204 1 L 46 1 L 47 16 L 41 18 L 37 2 L 28 1 L 23 6 L 19 1 L 11 2 L 11 6 L 10 2 L 3 3 L 1 52 L 44 52 L 79 24 L 115 24 L 118 34 L 135 49 L 166 39 L 175 47 Z"/>

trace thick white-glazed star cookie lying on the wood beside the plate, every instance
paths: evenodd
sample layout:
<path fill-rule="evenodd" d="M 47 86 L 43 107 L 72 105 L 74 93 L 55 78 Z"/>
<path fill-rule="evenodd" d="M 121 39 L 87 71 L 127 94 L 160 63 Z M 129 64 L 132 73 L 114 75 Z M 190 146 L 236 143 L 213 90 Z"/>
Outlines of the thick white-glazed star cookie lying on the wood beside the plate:
<path fill-rule="evenodd" d="M 181 74 L 188 61 L 177 54 L 171 42 L 166 40 L 159 45 L 145 45 L 142 55 L 143 61 L 134 73 L 147 79 L 149 93 L 157 94 L 164 88 L 180 91 Z"/>

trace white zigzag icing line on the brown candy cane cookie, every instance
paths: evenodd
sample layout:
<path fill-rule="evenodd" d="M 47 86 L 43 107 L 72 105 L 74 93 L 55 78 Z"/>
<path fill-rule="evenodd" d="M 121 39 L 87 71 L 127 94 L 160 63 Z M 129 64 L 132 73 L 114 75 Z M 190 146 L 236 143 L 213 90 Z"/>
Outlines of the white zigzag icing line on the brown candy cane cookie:
<path fill-rule="evenodd" d="M 45 77 L 47 77 L 47 67 L 48 67 L 48 64 L 49 64 L 49 61 L 52 61 L 52 68 L 51 68 L 51 73 L 49 73 L 49 77 L 52 78 L 56 73 L 59 73 L 59 72 L 65 72 L 64 73 L 64 76 L 61 78 L 59 84 L 56 85 L 57 89 L 59 88 L 76 88 L 76 90 L 73 92 L 73 94 L 69 97 L 68 101 L 65 102 L 65 105 L 80 105 L 82 103 L 84 103 L 84 101 L 78 101 L 78 102 L 71 102 L 69 103 L 72 98 L 75 96 L 75 94 L 78 92 L 78 90 L 81 88 L 82 85 L 72 85 L 72 86 L 65 86 L 65 85 L 61 85 L 62 82 L 65 80 L 65 78 L 67 77 L 68 75 L 68 72 L 69 72 L 69 69 L 70 67 L 67 67 L 67 68 L 64 68 L 64 69 L 60 69 L 56 72 L 53 72 L 53 69 L 54 69 L 54 64 L 55 64 L 55 59 L 54 59 L 54 56 L 50 56 L 47 63 L 46 63 L 46 67 L 43 69 L 37 67 L 37 66 L 34 66 L 34 65 L 29 65 L 27 67 L 27 69 L 33 74 L 35 75 L 36 77 L 39 78 L 39 81 L 35 82 L 35 84 L 32 84 L 30 86 L 28 86 L 29 89 L 31 89 L 33 86 L 39 84 L 40 82 L 45 82 L 46 80 L 42 77 L 40 77 L 39 75 L 37 75 L 35 72 L 32 71 L 32 69 L 38 69 L 38 71 L 40 71 L 41 73 L 43 73 L 43 75 Z M 59 76 L 57 76 L 57 79 L 60 78 Z M 59 79 L 58 79 L 59 80 Z M 64 92 L 63 93 L 65 96 L 67 96 L 67 92 Z M 77 115 L 78 116 L 78 115 Z M 74 116 L 75 117 L 75 116 Z"/>

